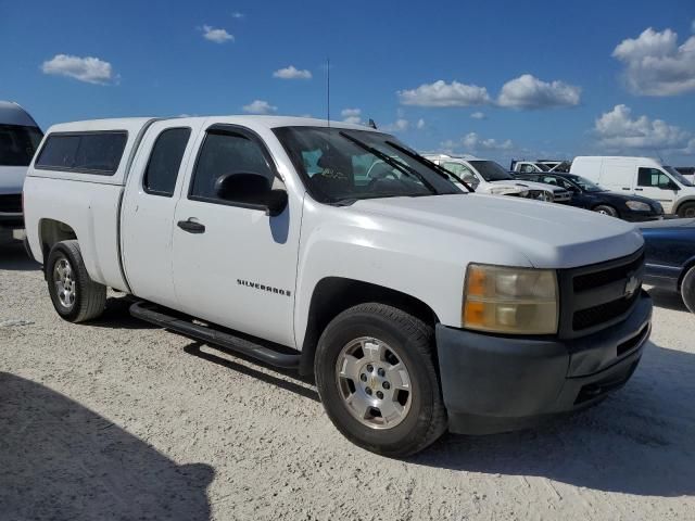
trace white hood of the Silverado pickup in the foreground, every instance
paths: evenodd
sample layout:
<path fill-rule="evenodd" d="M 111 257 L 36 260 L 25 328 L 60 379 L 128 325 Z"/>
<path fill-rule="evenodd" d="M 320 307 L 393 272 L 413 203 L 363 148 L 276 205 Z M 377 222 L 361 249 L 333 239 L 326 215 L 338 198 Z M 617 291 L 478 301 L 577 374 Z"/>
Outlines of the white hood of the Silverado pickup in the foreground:
<path fill-rule="evenodd" d="M 571 268 L 624 257 L 640 249 L 631 224 L 584 209 L 483 194 L 357 201 L 352 209 L 521 253 L 536 268 Z M 501 264 L 504 264 L 501 259 Z"/>

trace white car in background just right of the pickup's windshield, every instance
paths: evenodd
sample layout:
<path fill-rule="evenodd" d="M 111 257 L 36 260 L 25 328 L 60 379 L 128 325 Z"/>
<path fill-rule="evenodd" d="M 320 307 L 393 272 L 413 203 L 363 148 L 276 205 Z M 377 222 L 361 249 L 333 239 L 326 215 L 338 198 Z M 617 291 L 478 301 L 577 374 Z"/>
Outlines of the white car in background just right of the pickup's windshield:
<path fill-rule="evenodd" d="M 555 203 L 567 203 L 571 199 L 570 193 L 561 187 L 517 180 L 494 161 L 472 155 L 446 154 L 431 154 L 427 155 L 427 158 L 457 175 L 479 193 L 518 195 Z"/>

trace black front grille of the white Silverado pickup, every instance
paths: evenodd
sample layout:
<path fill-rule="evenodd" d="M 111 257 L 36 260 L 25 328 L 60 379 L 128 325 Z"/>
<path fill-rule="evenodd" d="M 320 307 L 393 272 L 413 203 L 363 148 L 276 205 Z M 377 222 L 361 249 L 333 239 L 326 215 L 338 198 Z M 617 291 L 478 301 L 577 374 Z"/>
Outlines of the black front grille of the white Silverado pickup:
<path fill-rule="evenodd" d="M 560 270 L 559 334 L 590 334 L 623 320 L 640 298 L 644 251 L 580 268 Z"/>

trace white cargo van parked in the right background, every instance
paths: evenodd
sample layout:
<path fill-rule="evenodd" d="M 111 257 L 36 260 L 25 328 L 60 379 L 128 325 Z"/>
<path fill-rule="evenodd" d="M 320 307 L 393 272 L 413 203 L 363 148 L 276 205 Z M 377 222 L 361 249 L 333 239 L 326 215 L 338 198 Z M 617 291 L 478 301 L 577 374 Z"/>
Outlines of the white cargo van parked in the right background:
<path fill-rule="evenodd" d="M 695 187 L 675 168 L 652 157 L 579 156 L 570 173 L 614 192 L 654 199 L 667 214 L 695 217 Z"/>

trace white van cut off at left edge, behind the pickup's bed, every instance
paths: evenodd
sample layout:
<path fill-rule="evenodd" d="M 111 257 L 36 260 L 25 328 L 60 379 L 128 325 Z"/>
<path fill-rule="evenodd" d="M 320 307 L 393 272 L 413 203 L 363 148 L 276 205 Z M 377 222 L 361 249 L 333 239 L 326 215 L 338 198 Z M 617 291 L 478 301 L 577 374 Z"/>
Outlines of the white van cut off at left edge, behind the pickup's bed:
<path fill-rule="evenodd" d="M 42 137 L 24 109 L 0 101 L 0 232 L 24 227 L 22 186 Z"/>

